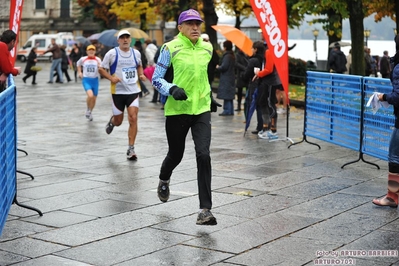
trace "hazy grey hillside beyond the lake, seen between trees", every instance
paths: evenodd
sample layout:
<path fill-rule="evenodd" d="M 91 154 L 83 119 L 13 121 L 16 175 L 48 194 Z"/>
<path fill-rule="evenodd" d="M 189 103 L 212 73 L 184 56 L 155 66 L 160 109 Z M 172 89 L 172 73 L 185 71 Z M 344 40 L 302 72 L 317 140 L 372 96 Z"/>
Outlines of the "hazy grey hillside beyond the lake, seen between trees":
<path fill-rule="evenodd" d="M 313 29 L 317 28 L 319 30 L 319 40 L 327 39 L 327 34 L 324 30 L 322 30 L 321 24 L 314 24 L 310 26 L 307 21 L 311 20 L 311 16 L 308 16 L 305 19 L 305 22 L 299 29 L 290 29 L 288 31 L 289 39 L 313 39 Z M 219 24 L 230 24 L 234 25 L 235 19 L 234 17 L 220 16 Z M 258 21 L 255 17 L 250 17 L 248 19 L 244 19 L 241 27 L 258 27 Z M 374 15 L 371 15 L 364 19 L 364 28 L 371 30 L 371 35 L 369 40 L 392 40 L 395 37 L 393 29 L 395 28 L 395 22 L 390 18 L 384 18 L 381 22 L 374 22 Z M 343 22 L 343 40 L 350 40 L 350 28 L 349 28 L 349 20 L 346 19 Z"/>

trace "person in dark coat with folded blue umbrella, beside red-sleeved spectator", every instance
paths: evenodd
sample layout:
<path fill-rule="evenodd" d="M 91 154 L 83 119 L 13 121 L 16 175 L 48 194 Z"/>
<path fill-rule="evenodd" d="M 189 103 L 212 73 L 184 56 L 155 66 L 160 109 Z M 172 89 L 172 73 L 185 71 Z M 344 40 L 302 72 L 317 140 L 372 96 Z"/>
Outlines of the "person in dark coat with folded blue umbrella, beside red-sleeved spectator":
<path fill-rule="evenodd" d="M 261 41 L 256 41 L 252 44 L 253 55 L 248 60 L 248 66 L 245 69 L 245 72 L 242 75 L 244 82 L 247 84 L 247 94 L 245 97 L 245 102 L 247 105 L 245 106 L 245 119 L 248 119 L 248 109 L 252 102 L 253 94 L 259 86 L 259 79 L 253 79 L 255 76 L 254 69 L 262 68 L 262 63 L 264 60 L 265 54 L 265 45 Z M 262 119 L 262 111 L 260 110 L 260 106 L 256 105 L 256 118 L 257 125 L 256 130 L 252 131 L 252 134 L 258 134 L 263 128 L 263 119 Z"/>

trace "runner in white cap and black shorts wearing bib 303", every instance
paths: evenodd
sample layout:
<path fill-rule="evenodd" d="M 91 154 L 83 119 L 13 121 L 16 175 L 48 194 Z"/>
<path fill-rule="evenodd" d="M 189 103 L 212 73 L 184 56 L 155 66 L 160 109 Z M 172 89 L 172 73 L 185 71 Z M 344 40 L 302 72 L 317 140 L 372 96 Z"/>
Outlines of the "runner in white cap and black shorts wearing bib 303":
<path fill-rule="evenodd" d="M 124 110 L 127 109 L 129 119 L 129 147 L 126 157 L 137 160 L 134 143 L 137 136 L 137 116 L 139 112 L 139 78 L 146 80 L 143 74 L 141 54 L 130 47 L 132 39 L 127 30 L 118 33 L 119 47 L 109 50 L 102 61 L 100 74 L 111 81 L 113 116 L 107 123 L 105 131 L 111 134 L 114 126 L 120 126 L 123 121 Z M 107 71 L 109 70 L 109 72 Z"/>

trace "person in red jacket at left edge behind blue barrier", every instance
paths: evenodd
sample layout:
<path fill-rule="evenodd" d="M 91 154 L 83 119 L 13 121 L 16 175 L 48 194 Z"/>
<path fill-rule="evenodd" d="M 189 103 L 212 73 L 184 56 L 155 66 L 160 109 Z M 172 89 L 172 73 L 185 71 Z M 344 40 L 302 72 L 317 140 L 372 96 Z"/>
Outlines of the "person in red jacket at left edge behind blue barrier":
<path fill-rule="evenodd" d="M 14 67 L 11 61 L 10 51 L 14 48 L 17 40 L 17 34 L 12 30 L 6 30 L 1 35 L 0 40 L 0 92 L 6 89 L 7 77 L 12 74 L 17 76 L 21 74 L 20 67 Z"/>

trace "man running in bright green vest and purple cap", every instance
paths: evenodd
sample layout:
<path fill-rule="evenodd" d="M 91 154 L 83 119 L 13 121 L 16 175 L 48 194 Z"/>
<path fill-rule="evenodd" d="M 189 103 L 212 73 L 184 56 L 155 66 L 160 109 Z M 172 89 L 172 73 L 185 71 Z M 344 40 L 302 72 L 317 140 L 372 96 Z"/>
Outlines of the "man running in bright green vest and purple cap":
<path fill-rule="evenodd" d="M 211 213 L 211 109 L 221 106 L 212 98 L 207 68 L 213 47 L 201 35 L 198 11 L 183 11 L 178 20 L 180 33 L 165 43 L 152 78 L 153 86 L 165 96 L 166 136 L 169 150 L 159 174 L 158 197 L 169 199 L 169 182 L 173 170 L 183 158 L 186 136 L 191 129 L 197 158 L 199 195 L 198 225 L 216 225 Z"/>

